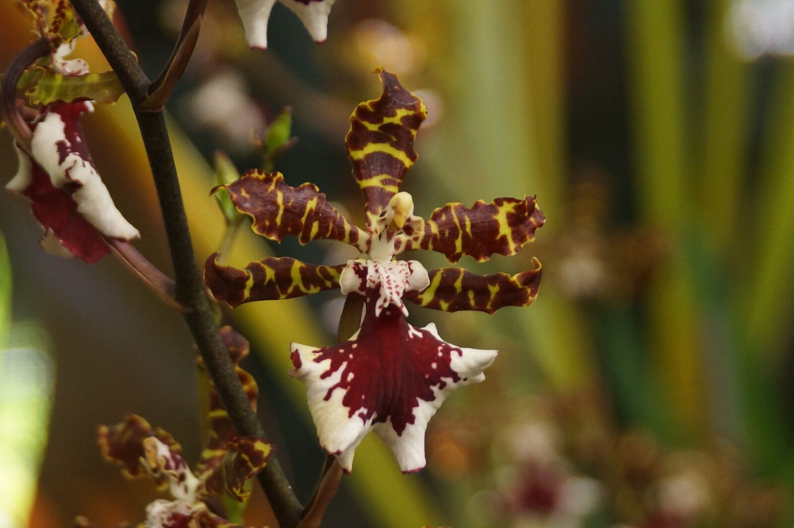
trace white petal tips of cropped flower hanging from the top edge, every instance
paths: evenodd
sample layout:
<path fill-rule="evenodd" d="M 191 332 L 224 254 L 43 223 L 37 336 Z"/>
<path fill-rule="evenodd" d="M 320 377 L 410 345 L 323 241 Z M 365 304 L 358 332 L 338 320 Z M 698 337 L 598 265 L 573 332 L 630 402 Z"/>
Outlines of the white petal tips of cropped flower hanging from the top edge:
<path fill-rule="evenodd" d="M 268 18 L 276 0 L 235 0 L 251 48 L 268 47 Z M 279 0 L 303 21 L 318 44 L 328 36 L 328 14 L 336 0 Z"/>

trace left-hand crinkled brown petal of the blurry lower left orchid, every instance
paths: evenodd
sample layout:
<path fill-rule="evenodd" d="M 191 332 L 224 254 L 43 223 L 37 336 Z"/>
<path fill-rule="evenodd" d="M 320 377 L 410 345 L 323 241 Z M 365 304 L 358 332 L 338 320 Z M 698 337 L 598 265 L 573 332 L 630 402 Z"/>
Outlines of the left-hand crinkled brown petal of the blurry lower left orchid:
<path fill-rule="evenodd" d="M 121 465 L 124 475 L 130 478 L 146 474 L 143 463 L 145 457 L 144 440 L 154 437 L 168 445 L 174 453 L 182 453 L 182 447 L 171 434 L 156 429 L 137 414 L 127 414 L 124 421 L 115 426 L 100 426 L 98 431 L 99 449 L 107 461 Z M 155 479 L 158 485 L 165 484 L 164 478 Z"/>

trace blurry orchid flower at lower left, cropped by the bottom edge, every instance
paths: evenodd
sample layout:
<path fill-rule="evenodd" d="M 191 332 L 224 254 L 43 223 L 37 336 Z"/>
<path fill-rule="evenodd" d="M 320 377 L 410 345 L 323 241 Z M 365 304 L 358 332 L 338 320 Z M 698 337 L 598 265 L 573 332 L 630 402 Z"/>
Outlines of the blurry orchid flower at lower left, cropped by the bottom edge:
<path fill-rule="evenodd" d="M 256 381 L 239 367 L 249 353 L 248 341 L 228 326 L 221 329 L 221 335 L 251 405 L 256 407 Z M 200 358 L 198 366 L 204 369 Z M 171 500 L 157 499 L 148 505 L 146 528 L 237 526 L 210 511 L 205 501 L 210 495 L 225 493 L 245 502 L 250 494 L 245 484 L 264 468 L 271 452 L 271 445 L 259 438 L 237 437 L 218 391 L 208 383 L 210 434 L 194 471 L 172 435 L 153 428 L 140 416 L 129 414 L 118 425 L 99 428 L 99 446 L 106 460 L 121 465 L 129 478 L 148 474 L 158 488 L 168 488 L 172 495 Z M 96 526 L 85 518 L 79 518 L 76 525 Z"/>

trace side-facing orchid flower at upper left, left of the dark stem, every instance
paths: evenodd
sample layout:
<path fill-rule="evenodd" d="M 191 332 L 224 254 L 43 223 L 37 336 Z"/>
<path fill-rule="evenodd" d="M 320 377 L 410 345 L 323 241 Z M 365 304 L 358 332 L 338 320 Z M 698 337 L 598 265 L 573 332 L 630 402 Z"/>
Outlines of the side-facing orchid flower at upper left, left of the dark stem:
<path fill-rule="evenodd" d="M 66 77 L 87 75 L 85 61 L 66 59 L 75 40 L 87 34 L 71 4 L 26 0 L 23 5 L 37 17 L 40 36 L 50 40 L 53 50 L 48 65 L 38 69 Z M 111 6 L 107 2 L 106 9 Z M 30 125 L 30 145 L 14 144 L 19 168 L 6 184 L 32 202 L 33 215 L 44 229 L 44 249 L 87 262 L 110 252 L 107 239 L 140 237 L 114 205 L 88 152 L 80 118 L 93 110 L 83 98 L 42 106 Z"/>

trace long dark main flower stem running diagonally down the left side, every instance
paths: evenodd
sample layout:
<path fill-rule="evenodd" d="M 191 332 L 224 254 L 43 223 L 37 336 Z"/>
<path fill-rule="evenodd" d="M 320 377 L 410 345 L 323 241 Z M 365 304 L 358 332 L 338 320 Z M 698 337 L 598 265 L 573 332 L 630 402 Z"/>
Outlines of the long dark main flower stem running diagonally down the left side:
<path fill-rule="evenodd" d="M 168 248 L 174 264 L 176 299 L 190 309 L 183 314 L 183 317 L 204 359 L 207 371 L 210 372 L 210 377 L 218 388 L 218 395 L 229 413 L 237 434 L 266 437 L 218 333 L 218 325 L 204 292 L 202 276 L 195 262 L 191 233 L 187 225 L 164 114 L 162 110 L 146 112 L 139 108 L 148 97 L 151 83 L 97 0 L 72 0 L 71 4 L 83 19 L 110 63 L 110 67 L 118 75 L 133 104 L 160 199 Z M 259 480 L 279 524 L 283 528 L 295 526 L 303 507 L 275 457 L 271 457 L 268 461 L 264 471 L 259 475 Z"/>

